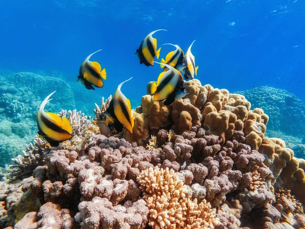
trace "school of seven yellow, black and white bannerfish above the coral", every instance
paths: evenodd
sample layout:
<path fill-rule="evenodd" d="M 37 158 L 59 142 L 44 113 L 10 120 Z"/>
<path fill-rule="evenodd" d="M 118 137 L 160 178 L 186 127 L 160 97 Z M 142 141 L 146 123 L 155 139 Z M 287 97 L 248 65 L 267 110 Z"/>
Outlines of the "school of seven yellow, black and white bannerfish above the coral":
<path fill-rule="evenodd" d="M 163 72 L 160 73 L 157 81 L 153 81 L 151 84 L 151 94 L 154 96 L 155 101 L 164 101 L 164 105 L 169 106 L 175 100 L 188 95 L 188 92 L 185 90 L 184 78 L 185 80 L 194 79 L 194 75 L 197 75 L 198 66 L 196 67 L 195 57 L 191 52 L 194 41 L 188 48 L 186 54 L 176 44 L 163 44 L 172 45 L 176 49 L 170 51 L 166 55 L 165 60 L 162 58 L 161 63 L 155 62 L 155 56 L 159 59 L 161 50 L 161 47 L 157 50 L 157 39 L 153 38 L 153 35 L 158 31 L 166 30 L 156 30 L 149 33 L 142 40 L 135 54 L 140 60 L 140 64 L 154 66 L 154 63 L 156 63 L 160 64 L 160 67 L 163 68 Z M 102 70 L 98 62 L 89 61 L 99 51 L 101 49 L 88 55 L 79 68 L 77 81 L 83 84 L 88 90 L 95 90 L 93 86 L 103 88 L 103 79 L 107 79 L 106 69 L 104 68 Z M 184 78 L 180 71 L 184 73 Z M 103 119 L 94 121 L 99 126 L 101 134 L 107 137 L 112 136 L 109 124 L 114 127 L 116 132 L 121 132 L 125 128 L 130 133 L 133 133 L 134 119 L 132 117 L 130 100 L 121 92 L 122 85 L 130 79 L 118 85 L 109 107 L 104 112 Z M 54 93 L 52 92 L 48 95 L 41 103 L 36 118 L 39 136 L 52 147 L 59 146 L 60 142 L 71 139 L 72 127 L 74 125 L 67 118 L 60 118 L 55 113 L 44 111 L 45 105 L 52 100 L 50 97 Z"/>

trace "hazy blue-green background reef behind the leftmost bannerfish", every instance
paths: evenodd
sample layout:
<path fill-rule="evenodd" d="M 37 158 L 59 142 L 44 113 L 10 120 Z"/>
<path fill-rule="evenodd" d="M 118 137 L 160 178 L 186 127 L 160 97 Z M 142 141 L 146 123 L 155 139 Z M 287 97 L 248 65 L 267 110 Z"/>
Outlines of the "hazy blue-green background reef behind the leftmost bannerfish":
<path fill-rule="evenodd" d="M 0 79 L 0 167 L 21 155 L 24 146 L 37 134 L 36 113 L 41 101 L 50 93 L 45 90 L 45 85 L 56 90 L 54 103 L 47 107 L 55 112 L 77 108 L 87 115 L 94 115 L 92 104 L 101 98 L 98 93 L 94 92 L 94 96 L 88 93 L 78 82 L 58 78 L 56 72 L 10 73 Z"/>

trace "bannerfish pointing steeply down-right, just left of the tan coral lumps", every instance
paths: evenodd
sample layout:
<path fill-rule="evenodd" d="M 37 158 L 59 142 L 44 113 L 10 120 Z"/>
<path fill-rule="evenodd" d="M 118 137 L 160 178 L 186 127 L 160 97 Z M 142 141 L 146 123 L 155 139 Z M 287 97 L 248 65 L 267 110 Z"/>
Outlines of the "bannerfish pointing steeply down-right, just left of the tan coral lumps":
<path fill-rule="evenodd" d="M 123 131 L 124 126 L 130 133 L 132 133 L 132 129 L 135 125 L 134 118 L 131 115 L 130 100 L 127 99 L 120 90 L 122 85 L 131 79 L 132 77 L 118 85 L 116 92 L 109 103 L 109 107 L 106 110 L 108 118 L 115 119 L 114 128 L 117 132 Z"/>

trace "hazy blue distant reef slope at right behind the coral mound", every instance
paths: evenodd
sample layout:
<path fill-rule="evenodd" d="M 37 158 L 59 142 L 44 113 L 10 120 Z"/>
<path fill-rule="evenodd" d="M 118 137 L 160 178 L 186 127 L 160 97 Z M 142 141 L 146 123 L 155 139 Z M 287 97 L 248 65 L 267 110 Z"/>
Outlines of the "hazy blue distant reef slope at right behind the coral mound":
<path fill-rule="evenodd" d="M 297 157 L 305 157 L 305 105 L 284 89 L 257 87 L 236 92 L 251 102 L 251 109 L 260 107 L 269 116 L 266 134 L 285 140 Z"/>

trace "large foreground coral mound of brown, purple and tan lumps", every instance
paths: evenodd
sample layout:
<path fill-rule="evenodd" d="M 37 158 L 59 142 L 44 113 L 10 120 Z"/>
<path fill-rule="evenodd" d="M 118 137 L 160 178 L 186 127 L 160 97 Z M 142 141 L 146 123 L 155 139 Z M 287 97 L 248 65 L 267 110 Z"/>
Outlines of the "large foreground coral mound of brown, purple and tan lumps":
<path fill-rule="evenodd" d="M 304 228 L 305 160 L 265 136 L 264 111 L 199 80 L 186 90 L 170 106 L 143 96 L 133 134 L 107 138 L 63 111 L 79 124 L 73 138 L 36 139 L 6 168 L 11 180 L 33 176 L 0 183 L 0 227 Z"/>

